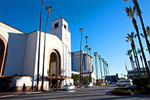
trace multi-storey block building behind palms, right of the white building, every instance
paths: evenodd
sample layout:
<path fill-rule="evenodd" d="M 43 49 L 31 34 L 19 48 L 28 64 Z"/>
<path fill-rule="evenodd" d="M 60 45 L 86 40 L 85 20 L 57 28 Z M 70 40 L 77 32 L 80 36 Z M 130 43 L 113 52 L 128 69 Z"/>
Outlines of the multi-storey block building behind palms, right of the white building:
<path fill-rule="evenodd" d="M 81 73 L 93 71 L 92 58 L 88 53 L 81 51 Z M 71 64 L 72 71 L 80 72 L 80 51 L 71 53 Z"/>

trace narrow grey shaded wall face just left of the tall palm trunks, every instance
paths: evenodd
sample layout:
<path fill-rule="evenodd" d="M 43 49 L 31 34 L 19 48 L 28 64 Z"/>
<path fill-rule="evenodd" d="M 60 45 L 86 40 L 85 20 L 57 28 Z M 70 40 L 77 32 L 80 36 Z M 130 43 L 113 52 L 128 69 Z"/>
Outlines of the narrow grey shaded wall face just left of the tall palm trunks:
<path fill-rule="evenodd" d="M 23 74 L 28 76 L 34 76 L 34 68 L 36 61 L 36 49 L 37 49 L 37 32 L 33 32 L 27 35 L 25 59 Z"/>

